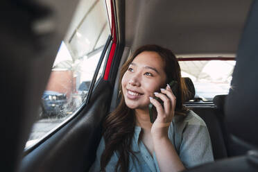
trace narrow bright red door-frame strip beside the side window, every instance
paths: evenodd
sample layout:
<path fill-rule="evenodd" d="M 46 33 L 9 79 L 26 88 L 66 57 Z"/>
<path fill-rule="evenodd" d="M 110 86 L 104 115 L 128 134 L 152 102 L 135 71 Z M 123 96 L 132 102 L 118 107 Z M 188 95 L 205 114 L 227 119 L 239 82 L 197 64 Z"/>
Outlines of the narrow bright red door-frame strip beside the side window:
<path fill-rule="evenodd" d="M 116 31 L 116 26 L 114 22 L 114 6 L 113 6 L 112 0 L 110 0 L 110 6 L 111 6 L 111 15 L 112 15 L 111 35 L 113 37 L 113 42 L 110 50 L 110 55 L 108 56 L 108 59 L 107 59 L 107 67 L 105 68 L 104 80 L 108 80 L 108 76 L 110 74 L 110 68 L 114 58 L 114 52 L 117 47 L 117 31 Z"/>

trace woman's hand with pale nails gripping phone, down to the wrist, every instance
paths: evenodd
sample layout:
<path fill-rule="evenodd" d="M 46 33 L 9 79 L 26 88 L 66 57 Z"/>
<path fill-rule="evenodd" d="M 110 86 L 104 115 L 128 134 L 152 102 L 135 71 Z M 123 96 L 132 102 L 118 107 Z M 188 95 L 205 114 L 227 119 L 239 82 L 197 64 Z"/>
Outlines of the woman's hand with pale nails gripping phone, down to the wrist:
<path fill-rule="evenodd" d="M 169 125 L 175 114 L 176 98 L 169 85 L 166 89 L 161 89 L 161 93 L 155 93 L 155 96 L 164 102 L 164 107 L 155 98 L 150 97 L 150 103 L 157 109 L 157 119 L 151 127 L 151 135 L 153 139 L 168 138 Z"/>

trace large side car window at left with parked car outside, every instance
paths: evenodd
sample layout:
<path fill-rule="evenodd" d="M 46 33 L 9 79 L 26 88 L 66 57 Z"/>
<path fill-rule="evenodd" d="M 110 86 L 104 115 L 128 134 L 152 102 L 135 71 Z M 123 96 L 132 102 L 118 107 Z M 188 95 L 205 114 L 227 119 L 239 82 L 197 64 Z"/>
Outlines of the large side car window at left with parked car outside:
<path fill-rule="evenodd" d="M 41 98 L 37 121 L 26 143 L 30 148 L 71 118 L 84 105 L 96 67 L 110 35 L 105 1 L 83 0 L 56 55 Z M 107 56 L 107 51 L 105 52 Z M 98 78 L 105 67 L 105 59 Z"/>

